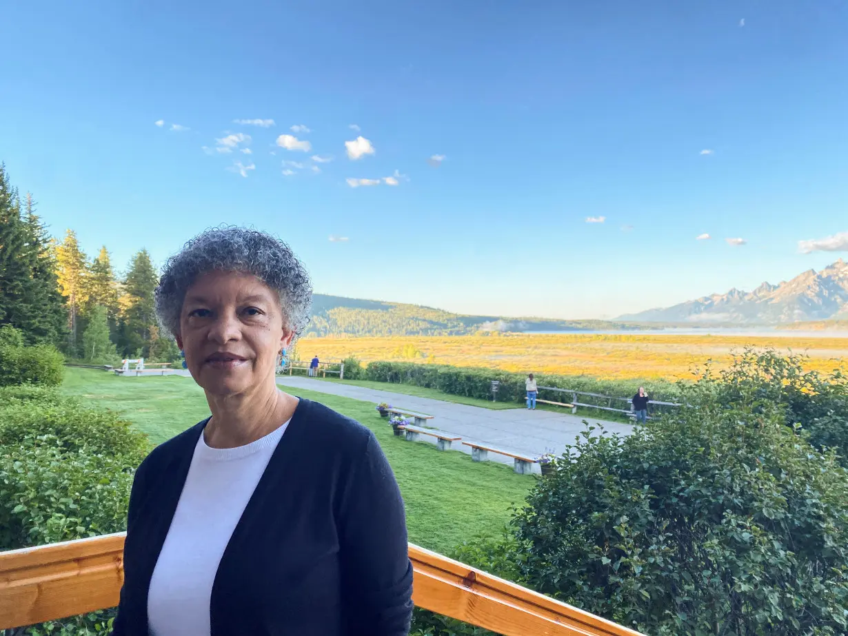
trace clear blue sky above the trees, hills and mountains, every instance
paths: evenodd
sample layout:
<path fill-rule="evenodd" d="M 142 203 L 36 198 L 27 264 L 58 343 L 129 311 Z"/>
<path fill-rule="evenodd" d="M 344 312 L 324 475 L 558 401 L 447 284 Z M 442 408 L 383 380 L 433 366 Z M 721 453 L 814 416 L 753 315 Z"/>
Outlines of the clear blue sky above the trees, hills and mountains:
<path fill-rule="evenodd" d="M 0 160 L 120 267 L 251 224 L 317 292 L 613 316 L 845 256 L 846 32 L 836 0 L 6 3 Z"/>

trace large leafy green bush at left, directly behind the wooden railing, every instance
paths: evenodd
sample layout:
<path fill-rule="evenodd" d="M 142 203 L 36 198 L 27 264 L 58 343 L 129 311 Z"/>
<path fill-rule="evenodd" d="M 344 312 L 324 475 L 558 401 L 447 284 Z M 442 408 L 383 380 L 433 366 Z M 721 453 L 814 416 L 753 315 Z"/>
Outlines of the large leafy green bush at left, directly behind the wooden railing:
<path fill-rule="evenodd" d="M 0 388 L 0 550 L 126 530 L 132 478 L 147 437 L 110 411 L 55 389 Z M 103 633 L 114 610 L 26 628 Z"/>

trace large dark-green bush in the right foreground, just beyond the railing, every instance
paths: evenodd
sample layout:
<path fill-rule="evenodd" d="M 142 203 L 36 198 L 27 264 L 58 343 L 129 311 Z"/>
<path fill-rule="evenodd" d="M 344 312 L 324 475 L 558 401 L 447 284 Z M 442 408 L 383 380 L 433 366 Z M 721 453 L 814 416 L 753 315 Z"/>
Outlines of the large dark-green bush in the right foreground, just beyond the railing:
<path fill-rule="evenodd" d="M 522 583 L 651 634 L 846 633 L 848 472 L 737 387 L 586 432 L 513 519 Z"/>

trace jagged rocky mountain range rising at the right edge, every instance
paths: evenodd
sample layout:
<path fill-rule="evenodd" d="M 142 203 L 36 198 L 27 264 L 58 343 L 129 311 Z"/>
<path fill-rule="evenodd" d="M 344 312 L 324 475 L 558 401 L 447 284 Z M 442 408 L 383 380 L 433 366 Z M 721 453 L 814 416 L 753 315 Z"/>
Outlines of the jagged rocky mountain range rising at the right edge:
<path fill-rule="evenodd" d="M 785 325 L 848 319 L 848 263 L 838 259 L 822 271 L 808 270 L 791 281 L 763 282 L 753 292 L 731 289 L 665 309 L 641 311 L 619 321 Z"/>

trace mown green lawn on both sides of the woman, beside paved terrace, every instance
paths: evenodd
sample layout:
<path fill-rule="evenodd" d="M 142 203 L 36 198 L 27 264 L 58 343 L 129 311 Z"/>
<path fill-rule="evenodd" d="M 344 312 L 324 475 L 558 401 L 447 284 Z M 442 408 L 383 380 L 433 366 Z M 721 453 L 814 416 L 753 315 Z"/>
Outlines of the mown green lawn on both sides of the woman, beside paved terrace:
<path fill-rule="evenodd" d="M 63 389 L 120 411 L 156 444 L 209 416 L 203 391 L 187 377 L 125 378 L 66 368 Z M 353 417 L 375 432 L 404 494 L 412 543 L 446 552 L 476 534 L 499 533 L 510 517 L 511 505 L 521 504 L 533 486 L 535 477 L 516 475 L 510 466 L 474 463 L 464 453 L 440 452 L 432 444 L 395 438 L 370 402 L 312 391 L 297 394 Z"/>

